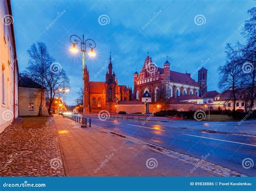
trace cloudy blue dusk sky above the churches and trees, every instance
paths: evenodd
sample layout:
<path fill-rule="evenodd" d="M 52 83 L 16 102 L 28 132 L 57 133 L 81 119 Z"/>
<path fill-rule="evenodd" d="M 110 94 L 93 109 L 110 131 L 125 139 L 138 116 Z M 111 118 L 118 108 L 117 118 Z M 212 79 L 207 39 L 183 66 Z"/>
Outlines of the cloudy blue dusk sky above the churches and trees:
<path fill-rule="evenodd" d="M 28 65 L 27 49 L 41 41 L 70 78 L 66 103 L 74 104 L 82 87 L 82 55 L 70 52 L 70 36 L 96 41 L 96 57 L 85 56 L 90 81 L 105 81 L 111 51 L 118 84 L 133 87 L 147 52 L 158 67 L 166 56 L 171 70 L 191 73 L 208 69 L 208 91 L 218 89 L 218 66 L 225 64 L 226 43 L 244 41 L 241 29 L 247 1 L 74 1 L 13 0 L 12 13 L 19 71 Z M 89 51 L 89 49 L 87 49 Z M 101 69 L 101 68 L 105 69 Z"/>

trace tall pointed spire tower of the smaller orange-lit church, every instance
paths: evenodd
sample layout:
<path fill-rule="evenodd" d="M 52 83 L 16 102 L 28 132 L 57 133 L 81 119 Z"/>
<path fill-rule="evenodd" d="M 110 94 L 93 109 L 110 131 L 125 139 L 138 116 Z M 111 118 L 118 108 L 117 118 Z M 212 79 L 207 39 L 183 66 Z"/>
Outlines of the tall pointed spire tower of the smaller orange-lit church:
<path fill-rule="evenodd" d="M 112 60 L 111 60 L 111 54 L 109 58 L 109 67 L 106 72 L 106 110 L 110 112 L 114 112 L 115 110 L 115 104 L 116 104 L 116 74 L 114 72 L 112 73 Z"/>

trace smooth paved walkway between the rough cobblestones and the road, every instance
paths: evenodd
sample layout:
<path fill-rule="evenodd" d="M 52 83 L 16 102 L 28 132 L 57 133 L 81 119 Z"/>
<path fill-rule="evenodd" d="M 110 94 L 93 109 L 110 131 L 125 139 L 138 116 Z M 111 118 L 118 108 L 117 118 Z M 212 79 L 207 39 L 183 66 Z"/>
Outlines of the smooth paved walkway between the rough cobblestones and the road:
<path fill-rule="evenodd" d="M 68 176 L 218 176 L 99 128 L 55 117 Z"/>

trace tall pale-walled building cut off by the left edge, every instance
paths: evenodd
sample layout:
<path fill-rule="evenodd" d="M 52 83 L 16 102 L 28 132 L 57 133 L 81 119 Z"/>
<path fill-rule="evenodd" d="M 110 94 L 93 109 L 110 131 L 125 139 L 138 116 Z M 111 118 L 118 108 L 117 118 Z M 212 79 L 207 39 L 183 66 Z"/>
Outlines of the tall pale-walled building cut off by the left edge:
<path fill-rule="evenodd" d="M 0 133 L 18 117 L 18 63 L 10 0 L 0 1 Z"/>

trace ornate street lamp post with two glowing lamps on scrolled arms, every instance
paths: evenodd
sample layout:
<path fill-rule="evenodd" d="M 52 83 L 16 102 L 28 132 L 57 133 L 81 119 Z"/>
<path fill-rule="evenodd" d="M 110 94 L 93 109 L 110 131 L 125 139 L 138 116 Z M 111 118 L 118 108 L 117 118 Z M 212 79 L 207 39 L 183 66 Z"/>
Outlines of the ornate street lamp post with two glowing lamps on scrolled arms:
<path fill-rule="evenodd" d="M 83 59 L 83 116 L 85 116 L 85 96 L 84 96 L 84 89 L 85 89 L 85 84 L 84 84 L 84 74 L 85 74 L 85 69 L 84 69 L 84 56 L 86 53 L 86 47 L 89 47 L 91 50 L 88 53 L 91 57 L 95 56 L 95 52 L 93 52 L 93 48 L 96 47 L 96 43 L 94 40 L 92 39 L 86 39 L 84 40 L 84 35 L 83 38 L 81 39 L 80 37 L 78 37 L 77 35 L 73 34 L 70 37 L 70 42 L 72 43 L 72 47 L 71 47 L 71 52 L 73 53 L 77 53 L 78 49 L 76 47 L 76 45 L 78 45 L 78 43 L 80 43 L 80 51 L 82 52 L 82 59 Z M 89 105 L 89 110 L 90 110 L 90 105 Z"/>

